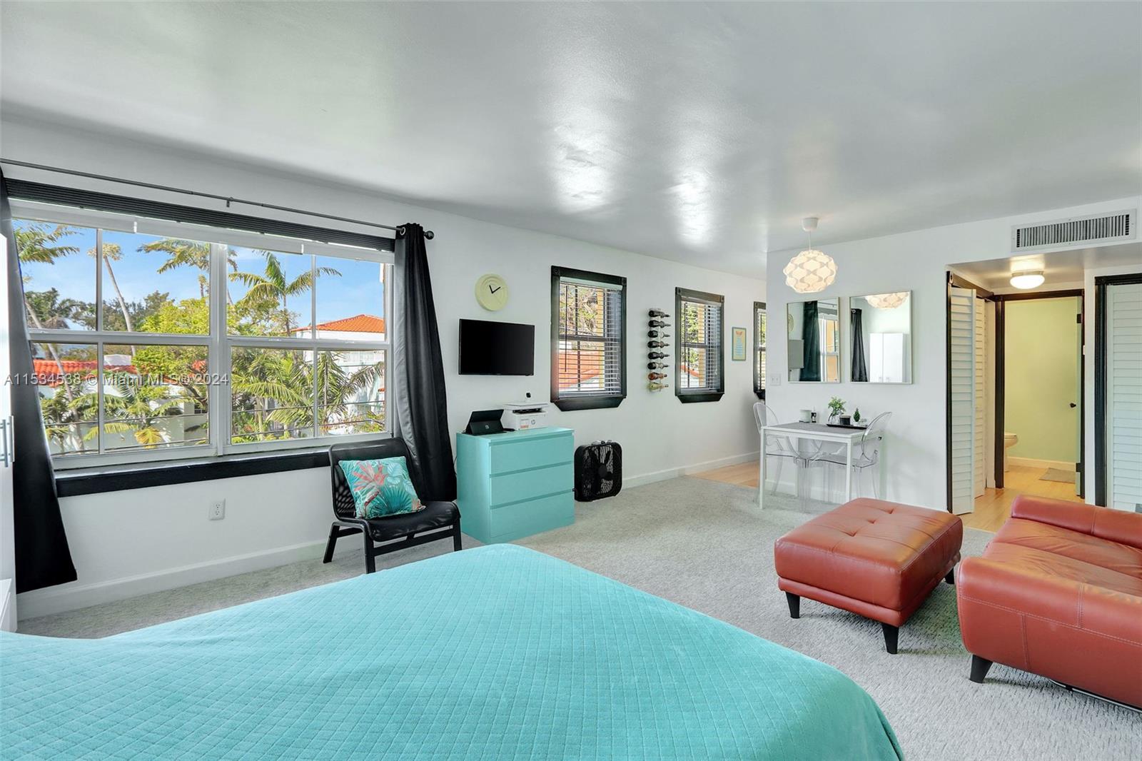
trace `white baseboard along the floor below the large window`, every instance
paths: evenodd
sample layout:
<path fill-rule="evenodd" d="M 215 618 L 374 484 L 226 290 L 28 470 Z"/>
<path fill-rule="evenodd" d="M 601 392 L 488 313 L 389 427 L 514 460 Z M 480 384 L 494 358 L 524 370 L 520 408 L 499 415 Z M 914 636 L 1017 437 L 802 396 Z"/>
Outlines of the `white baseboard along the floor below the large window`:
<path fill-rule="evenodd" d="M 16 612 L 21 620 L 38 616 L 50 616 L 65 610 L 77 610 L 104 602 L 126 600 L 140 594 L 164 592 L 180 586 L 211 582 L 226 576 L 235 576 L 266 568 L 287 566 L 299 560 L 320 558 L 325 548 L 324 539 L 307 542 L 288 547 L 275 547 L 222 560 L 211 560 L 192 566 L 169 568 L 152 574 L 128 576 L 98 584 L 61 585 L 34 592 L 24 592 L 16 600 Z"/>

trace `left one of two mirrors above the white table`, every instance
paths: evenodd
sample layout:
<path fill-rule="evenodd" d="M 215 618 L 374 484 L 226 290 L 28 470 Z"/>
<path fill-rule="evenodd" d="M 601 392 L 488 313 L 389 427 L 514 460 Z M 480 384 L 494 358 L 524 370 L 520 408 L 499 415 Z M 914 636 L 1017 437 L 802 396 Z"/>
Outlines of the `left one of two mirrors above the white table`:
<path fill-rule="evenodd" d="M 841 383 L 839 299 L 786 305 L 790 383 Z"/>

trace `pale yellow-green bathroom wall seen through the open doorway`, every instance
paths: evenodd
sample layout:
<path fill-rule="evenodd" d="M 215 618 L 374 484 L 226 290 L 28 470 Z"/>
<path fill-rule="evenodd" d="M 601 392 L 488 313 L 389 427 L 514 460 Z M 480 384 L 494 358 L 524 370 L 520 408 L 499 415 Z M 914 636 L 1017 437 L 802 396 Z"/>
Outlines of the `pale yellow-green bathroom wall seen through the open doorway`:
<path fill-rule="evenodd" d="M 1078 462 L 1077 296 L 1007 302 L 1004 430 L 1012 457 Z"/>

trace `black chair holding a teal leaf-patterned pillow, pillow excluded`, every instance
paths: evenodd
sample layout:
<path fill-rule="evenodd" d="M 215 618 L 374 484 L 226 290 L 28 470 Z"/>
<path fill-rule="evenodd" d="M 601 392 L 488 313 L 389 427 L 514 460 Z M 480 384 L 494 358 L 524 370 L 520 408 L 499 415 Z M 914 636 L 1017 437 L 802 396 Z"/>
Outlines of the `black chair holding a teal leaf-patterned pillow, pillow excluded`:
<path fill-rule="evenodd" d="M 384 459 L 386 457 L 403 457 L 409 467 L 409 476 L 417 496 L 425 503 L 424 510 L 402 515 L 386 518 L 360 519 L 356 516 L 356 505 L 349 490 L 343 459 Z M 325 558 L 322 562 L 333 559 L 333 547 L 337 539 L 353 534 L 364 535 L 364 570 L 371 574 L 377 570 L 377 555 L 388 554 L 397 550 L 415 547 L 418 544 L 447 539 L 452 537 L 453 551 L 460 546 L 460 511 L 455 502 L 431 502 L 421 490 L 423 481 L 418 478 L 416 465 L 409 456 L 409 448 L 403 439 L 387 439 L 375 444 L 333 444 L 329 448 L 329 466 L 333 482 L 333 524 L 329 527 L 329 543 L 325 545 Z M 418 536 L 419 535 L 419 536 Z M 403 539 L 403 540 L 401 540 Z M 375 545 L 373 543 L 380 543 Z"/>

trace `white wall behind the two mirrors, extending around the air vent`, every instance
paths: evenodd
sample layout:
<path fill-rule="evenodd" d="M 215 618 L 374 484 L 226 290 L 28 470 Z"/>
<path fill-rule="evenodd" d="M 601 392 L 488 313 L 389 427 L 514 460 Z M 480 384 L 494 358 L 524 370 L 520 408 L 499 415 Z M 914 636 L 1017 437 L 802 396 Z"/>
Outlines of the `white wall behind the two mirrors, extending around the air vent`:
<path fill-rule="evenodd" d="M 946 479 L 946 272 L 948 265 L 964 262 L 1004 258 L 1011 255 L 1011 227 L 1056 219 L 1120 211 L 1139 208 L 1142 197 L 1115 199 L 1065 209 L 1000 217 L 944 227 L 872 238 L 844 243 L 819 243 L 837 263 L 836 281 L 814 296 L 841 296 L 842 365 L 839 384 L 789 383 L 786 374 L 783 341 L 771 341 L 769 350 L 770 386 L 767 402 L 785 419 L 795 419 L 796 411 L 805 407 L 823 410 L 829 398 L 838 395 L 849 402 L 849 409 L 860 407 L 861 414 L 872 417 L 879 411 L 892 411 L 886 439 L 885 498 L 906 504 L 944 510 L 947 505 Z M 828 218 L 822 219 L 822 232 L 828 230 Z M 796 250 L 770 253 L 767 257 L 767 293 L 770 325 L 786 323 L 786 303 L 803 301 L 786 286 L 781 273 Z M 1093 281 L 1092 281 L 1093 285 Z M 878 385 L 849 383 L 849 303 L 847 297 L 898 290 L 912 291 L 912 383 L 908 385 Z M 1087 298 L 1087 439 L 1093 428 L 1093 310 L 1094 299 Z M 774 383 L 780 378 L 780 385 Z M 1093 447 L 1093 446 L 1092 446 Z M 1093 448 L 1088 448 L 1093 452 Z M 1093 456 L 1089 458 L 1093 459 Z M 1091 466 L 1093 467 L 1093 465 Z M 834 479 L 834 484 L 842 482 Z M 820 484 L 820 478 L 817 479 Z M 1093 486 L 1088 487 L 1093 494 Z M 836 492 L 833 499 L 838 499 Z"/>

